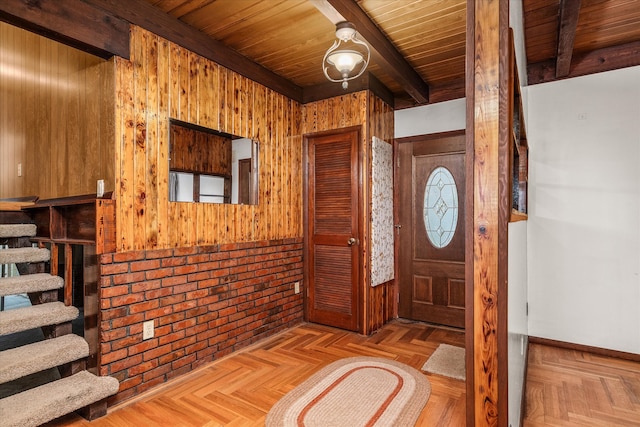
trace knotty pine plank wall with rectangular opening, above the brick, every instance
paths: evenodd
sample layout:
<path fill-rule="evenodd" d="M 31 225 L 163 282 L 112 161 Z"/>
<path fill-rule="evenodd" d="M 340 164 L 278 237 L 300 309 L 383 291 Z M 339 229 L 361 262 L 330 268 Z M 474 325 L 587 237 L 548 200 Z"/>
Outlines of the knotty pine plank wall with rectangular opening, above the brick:
<path fill-rule="evenodd" d="M 260 141 L 257 205 L 169 203 L 169 119 Z M 118 251 L 302 236 L 300 105 L 139 27 L 116 59 Z"/>

